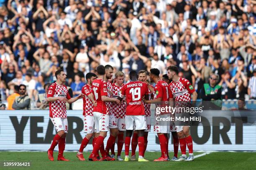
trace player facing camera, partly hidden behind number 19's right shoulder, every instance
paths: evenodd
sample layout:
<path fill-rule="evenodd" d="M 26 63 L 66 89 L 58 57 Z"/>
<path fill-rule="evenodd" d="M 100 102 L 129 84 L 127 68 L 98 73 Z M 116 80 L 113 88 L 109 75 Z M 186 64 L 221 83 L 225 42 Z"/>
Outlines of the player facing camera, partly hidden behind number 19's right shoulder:
<path fill-rule="evenodd" d="M 147 73 L 145 70 L 140 70 L 138 72 L 138 80 L 141 82 L 147 83 L 149 100 L 153 99 L 154 87 L 147 82 Z M 152 90 L 152 92 L 150 91 L 150 89 Z M 144 131 L 144 141 L 145 141 L 144 154 L 145 154 L 145 151 L 148 145 L 148 132 L 150 132 L 151 130 L 151 104 L 144 103 L 144 107 L 145 107 L 146 125 L 147 125 L 147 129 Z M 136 160 L 135 151 L 136 151 L 137 145 L 138 145 L 138 133 L 136 130 L 134 130 L 133 138 L 131 140 L 131 148 L 132 148 L 131 160 Z"/>

